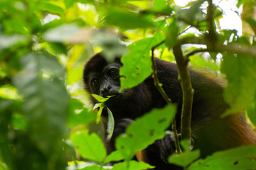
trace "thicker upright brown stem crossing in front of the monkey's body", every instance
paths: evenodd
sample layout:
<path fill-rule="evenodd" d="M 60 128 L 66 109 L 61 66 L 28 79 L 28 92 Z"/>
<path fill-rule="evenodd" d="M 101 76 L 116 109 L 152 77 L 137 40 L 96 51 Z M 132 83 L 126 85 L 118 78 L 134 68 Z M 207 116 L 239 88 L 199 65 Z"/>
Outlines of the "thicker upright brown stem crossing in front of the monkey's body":
<path fill-rule="evenodd" d="M 191 140 L 191 113 L 193 103 L 193 88 L 188 72 L 188 58 L 183 57 L 181 44 L 173 48 L 178 67 L 178 80 L 181 83 L 183 103 L 181 110 L 181 139 Z"/>

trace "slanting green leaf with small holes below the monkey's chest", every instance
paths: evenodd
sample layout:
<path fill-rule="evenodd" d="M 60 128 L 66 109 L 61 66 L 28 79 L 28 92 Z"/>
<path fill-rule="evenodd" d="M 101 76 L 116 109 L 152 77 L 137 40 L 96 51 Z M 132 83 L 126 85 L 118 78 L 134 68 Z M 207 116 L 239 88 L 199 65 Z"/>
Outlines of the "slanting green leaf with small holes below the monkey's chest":
<path fill-rule="evenodd" d="M 155 140 L 164 137 L 165 130 L 171 124 L 175 113 L 175 106 L 166 106 L 137 118 L 126 129 L 125 135 L 117 137 L 115 145 L 117 150 L 122 152 L 125 159 L 132 159 L 136 151 L 145 149 Z"/>

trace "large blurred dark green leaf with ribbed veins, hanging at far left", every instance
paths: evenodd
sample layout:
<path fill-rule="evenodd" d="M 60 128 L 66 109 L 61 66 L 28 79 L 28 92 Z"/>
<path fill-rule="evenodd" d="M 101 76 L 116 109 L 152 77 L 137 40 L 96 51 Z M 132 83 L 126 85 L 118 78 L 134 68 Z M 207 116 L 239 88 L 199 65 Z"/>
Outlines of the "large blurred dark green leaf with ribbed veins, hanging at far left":
<path fill-rule="evenodd" d="M 68 115 L 69 96 L 61 80 L 64 69 L 58 60 L 42 53 L 23 56 L 21 64 L 23 70 L 14 77 L 14 84 L 24 96 L 29 135 L 42 152 L 53 154 Z"/>

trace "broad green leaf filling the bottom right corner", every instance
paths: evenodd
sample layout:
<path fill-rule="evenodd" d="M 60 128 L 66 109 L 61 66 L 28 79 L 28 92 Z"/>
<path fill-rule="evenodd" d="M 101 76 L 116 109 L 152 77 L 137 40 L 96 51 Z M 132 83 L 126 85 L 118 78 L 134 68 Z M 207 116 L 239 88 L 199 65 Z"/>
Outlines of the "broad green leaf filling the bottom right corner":
<path fill-rule="evenodd" d="M 206 159 L 198 160 L 189 166 L 188 170 L 255 169 L 255 157 L 255 146 L 238 147 L 222 152 L 215 152 L 212 156 L 206 157 Z"/>

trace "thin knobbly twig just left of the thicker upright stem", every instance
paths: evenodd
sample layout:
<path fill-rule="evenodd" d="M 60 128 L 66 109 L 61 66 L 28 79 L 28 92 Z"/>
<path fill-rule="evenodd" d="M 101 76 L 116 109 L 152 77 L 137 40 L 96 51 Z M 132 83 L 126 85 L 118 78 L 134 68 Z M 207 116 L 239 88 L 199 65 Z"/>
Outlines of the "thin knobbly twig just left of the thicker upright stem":
<path fill-rule="evenodd" d="M 157 70 L 156 70 L 156 61 L 154 58 L 154 50 L 156 47 L 159 47 L 159 45 L 163 44 L 165 41 L 160 42 L 159 44 L 155 45 L 154 47 L 151 48 L 151 62 L 152 62 L 152 69 L 153 69 L 153 74 L 152 77 L 154 79 L 154 86 L 156 86 L 156 89 L 158 89 L 159 93 L 161 94 L 161 96 L 163 96 L 164 100 L 168 103 L 168 104 L 172 104 L 171 102 L 171 98 L 169 98 L 166 94 L 166 92 L 164 91 L 162 84 L 159 82 L 159 79 L 157 78 Z M 176 120 L 175 118 L 172 120 L 172 126 L 171 126 L 173 132 L 174 132 L 174 142 L 175 142 L 175 147 L 176 147 L 176 152 L 178 154 L 180 154 L 181 151 L 181 147 L 179 145 L 179 140 L 178 140 L 178 131 L 176 128 Z"/>

